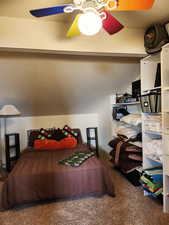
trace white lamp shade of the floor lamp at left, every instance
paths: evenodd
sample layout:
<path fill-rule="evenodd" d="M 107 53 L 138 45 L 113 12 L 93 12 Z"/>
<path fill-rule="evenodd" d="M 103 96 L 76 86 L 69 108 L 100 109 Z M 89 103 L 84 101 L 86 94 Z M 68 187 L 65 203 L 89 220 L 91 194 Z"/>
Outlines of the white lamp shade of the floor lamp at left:
<path fill-rule="evenodd" d="M 0 110 L 0 117 L 19 116 L 21 113 L 14 105 L 4 105 Z"/>

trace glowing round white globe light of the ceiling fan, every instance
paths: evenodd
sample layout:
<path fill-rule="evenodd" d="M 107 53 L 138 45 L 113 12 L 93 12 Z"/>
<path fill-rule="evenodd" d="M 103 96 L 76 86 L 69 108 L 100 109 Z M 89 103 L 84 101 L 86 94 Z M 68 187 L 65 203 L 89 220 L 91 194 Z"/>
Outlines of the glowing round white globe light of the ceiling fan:
<path fill-rule="evenodd" d="M 78 27 L 82 34 L 92 36 L 102 28 L 102 19 L 95 12 L 85 12 L 79 17 Z"/>

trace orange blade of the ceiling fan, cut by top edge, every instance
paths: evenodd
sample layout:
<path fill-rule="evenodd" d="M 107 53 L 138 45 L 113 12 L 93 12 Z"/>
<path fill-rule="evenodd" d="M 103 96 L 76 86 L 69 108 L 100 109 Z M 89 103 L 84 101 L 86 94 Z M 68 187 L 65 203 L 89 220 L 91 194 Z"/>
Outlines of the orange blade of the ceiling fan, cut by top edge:
<path fill-rule="evenodd" d="M 129 10 L 148 10 L 151 9 L 155 0 L 117 0 L 117 8 L 113 8 L 113 1 L 107 0 L 109 11 L 129 11 Z M 112 9 L 111 9 L 112 4 Z"/>

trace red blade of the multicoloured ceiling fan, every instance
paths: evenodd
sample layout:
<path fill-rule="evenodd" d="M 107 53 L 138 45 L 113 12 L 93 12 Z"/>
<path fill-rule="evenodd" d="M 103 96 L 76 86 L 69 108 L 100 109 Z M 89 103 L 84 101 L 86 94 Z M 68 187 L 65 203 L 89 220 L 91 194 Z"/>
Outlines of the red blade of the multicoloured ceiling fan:
<path fill-rule="evenodd" d="M 107 31 L 107 33 L 112 35 L 124 28 L 124 26 L 118 20 L 116 20 L 116 18 L 114 18 L 110 13 L 105 10 L 102 12 L 106 14 L 106 19 L 104 19 L 102 22 L 103 28 L 105 31 Z"/>

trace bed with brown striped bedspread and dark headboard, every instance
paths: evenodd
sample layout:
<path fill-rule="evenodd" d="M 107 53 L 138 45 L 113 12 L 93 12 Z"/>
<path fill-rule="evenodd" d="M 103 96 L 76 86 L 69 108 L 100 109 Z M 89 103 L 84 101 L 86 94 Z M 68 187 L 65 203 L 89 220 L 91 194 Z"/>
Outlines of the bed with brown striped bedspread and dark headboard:
<path fill-rule="evenodd" d="M 111 170 L 96 156 L 79 167 L 62 166 L 58 161 L 77 151 L 90 151 L 82 143 L 80 130 L 74 149 L 37 151 L 32 147 L 36 131 L 29 131 L 25 149 L 5 181 L 0 208 L 10 209 L 23 203 L 40 200 L 80 197 L 84 195 L 114 196 Z"/>

